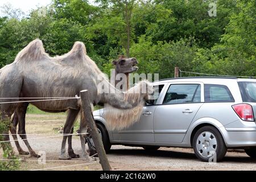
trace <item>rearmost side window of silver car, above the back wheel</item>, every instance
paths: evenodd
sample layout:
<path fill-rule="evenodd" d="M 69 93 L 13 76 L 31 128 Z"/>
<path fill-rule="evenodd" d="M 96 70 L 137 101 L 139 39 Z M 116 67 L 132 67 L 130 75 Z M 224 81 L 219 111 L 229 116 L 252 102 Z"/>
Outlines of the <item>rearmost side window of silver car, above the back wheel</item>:
<path fill-rule="evenodd" d="M 226 85 L 204 85 L 205 102 L 234 102 L 234 98 Z"/>

